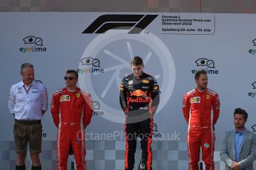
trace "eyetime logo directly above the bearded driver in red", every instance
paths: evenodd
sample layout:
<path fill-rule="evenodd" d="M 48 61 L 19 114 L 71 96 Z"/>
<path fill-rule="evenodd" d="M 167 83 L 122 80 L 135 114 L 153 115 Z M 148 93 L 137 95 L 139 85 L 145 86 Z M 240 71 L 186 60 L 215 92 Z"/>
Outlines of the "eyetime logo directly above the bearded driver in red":
<path fill-rule="evenodd" d="M 197 64 L 197 67 L 202 67 L 201 69 L 205 69 L 209 75 L 219 74 L 219 70 L 215 68 L 215 63 L 213 60 L 209 60 L 207 58 L 199 58 L 194 62 Z M 198 71 L 200 71 L 200 69 L 192 69 L 191 73 L 195 74 Z"/>

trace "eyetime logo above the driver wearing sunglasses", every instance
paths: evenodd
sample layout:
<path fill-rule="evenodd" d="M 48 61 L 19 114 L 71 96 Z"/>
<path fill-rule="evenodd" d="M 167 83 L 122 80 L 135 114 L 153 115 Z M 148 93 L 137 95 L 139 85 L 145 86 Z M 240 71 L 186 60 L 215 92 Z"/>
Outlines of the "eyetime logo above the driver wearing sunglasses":
<path fill-rule="evenodd" d="M 100 61 L 97 58 L 85 57 L 80 60 L 82 68 L 77 69 L 80 74 L 85 73 L 104 73 L 104 69 L 100 67 Z"/>

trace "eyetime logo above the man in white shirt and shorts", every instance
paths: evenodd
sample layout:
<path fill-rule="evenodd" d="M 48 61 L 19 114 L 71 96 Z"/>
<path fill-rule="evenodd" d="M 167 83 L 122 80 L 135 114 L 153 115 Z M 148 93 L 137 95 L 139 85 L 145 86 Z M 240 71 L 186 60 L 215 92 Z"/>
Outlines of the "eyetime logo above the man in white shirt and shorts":
<path fill-rule="evenodd" d="M 44 47 L 42 38 L 35 36 L 27 36 L 23 38 L 25 47 L 20 47 L 19 51 L 26 52 L 46 52 L 47 48 Z M 29 47 L 28 47 L 29 46 Z"/>

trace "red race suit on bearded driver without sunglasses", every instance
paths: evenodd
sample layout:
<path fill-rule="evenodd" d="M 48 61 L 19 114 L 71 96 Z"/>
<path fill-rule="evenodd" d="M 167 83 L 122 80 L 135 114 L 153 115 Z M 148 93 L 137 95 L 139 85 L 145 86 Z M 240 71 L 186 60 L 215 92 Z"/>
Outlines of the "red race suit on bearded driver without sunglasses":
<path fill-rule="evenodd" d="M 183 115 L 188 123 L 189 169 L 198 169 L 200 147 L 206 170 L 214 169 L 214 124 L 220 114 L 220 100 L 216 92 L 193 89 L 184 95 Z"/>

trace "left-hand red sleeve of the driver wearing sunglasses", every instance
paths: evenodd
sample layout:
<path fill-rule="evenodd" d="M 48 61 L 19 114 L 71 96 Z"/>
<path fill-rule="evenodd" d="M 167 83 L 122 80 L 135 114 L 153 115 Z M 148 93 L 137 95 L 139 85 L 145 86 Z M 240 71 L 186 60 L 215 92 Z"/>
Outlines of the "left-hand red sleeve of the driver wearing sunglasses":
<path fill-rule="evenodd" d="M 53 95 L 50 104 L 50 112 L 56 127 L 59 127 L 59 95 Z"/>

